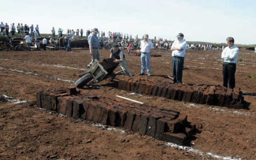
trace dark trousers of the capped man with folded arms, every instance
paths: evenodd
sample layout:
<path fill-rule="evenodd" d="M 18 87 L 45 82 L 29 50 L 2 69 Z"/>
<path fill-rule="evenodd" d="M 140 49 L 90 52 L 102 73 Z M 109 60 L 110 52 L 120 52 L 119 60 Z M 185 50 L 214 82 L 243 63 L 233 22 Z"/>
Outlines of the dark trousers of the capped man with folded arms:
<path fill-rule="evenodd" d="M 173 56 L 173 82 L 182 83 L 184 57 Z"/>

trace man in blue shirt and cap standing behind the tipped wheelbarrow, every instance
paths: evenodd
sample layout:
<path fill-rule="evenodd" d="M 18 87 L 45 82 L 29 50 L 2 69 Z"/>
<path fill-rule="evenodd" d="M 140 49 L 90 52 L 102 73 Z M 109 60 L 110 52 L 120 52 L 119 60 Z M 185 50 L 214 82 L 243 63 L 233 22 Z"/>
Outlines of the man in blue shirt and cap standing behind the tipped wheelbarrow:
<path fill-rule="evenodd" d="M 89 49 L 90 49 L 90 55 L 91 55 L 91 63 L 87 65 L 87 67 L 91 67 L 92 63 L 97 59 L 100 60 L 100 41 L 97 37 L 98 29 L 93 29 L 93 33 L 89 35 L 88 43 L 89 43 Z"/>

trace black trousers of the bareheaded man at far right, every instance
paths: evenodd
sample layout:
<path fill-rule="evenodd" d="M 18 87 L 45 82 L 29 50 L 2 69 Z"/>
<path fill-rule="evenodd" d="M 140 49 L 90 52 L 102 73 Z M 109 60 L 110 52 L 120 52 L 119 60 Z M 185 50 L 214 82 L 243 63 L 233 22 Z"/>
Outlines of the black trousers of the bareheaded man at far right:
<path fill-rule="evenodd" d="M 235 81 L 236 64 L 234 63 L 223 63 L 223 87 L 233 89 L 236 86 Z"/>

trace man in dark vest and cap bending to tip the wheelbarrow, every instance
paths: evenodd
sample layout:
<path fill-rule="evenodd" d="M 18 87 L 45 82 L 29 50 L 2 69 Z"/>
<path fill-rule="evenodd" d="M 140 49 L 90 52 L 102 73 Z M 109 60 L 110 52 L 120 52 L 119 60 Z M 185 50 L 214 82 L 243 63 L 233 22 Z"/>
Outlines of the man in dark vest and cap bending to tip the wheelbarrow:
<path fill-rule="evenodd" d="M 124 53 L 118 47 L 118 44 L 114 44 L 113 47 L 110 49 L 110 52 L 111 53 L 109 58 L 114 58 L 115 60 L 113 62 L 119 63 L 124 73 L 128 76 L 132 76 L 131 72 L 127 69 Z"/>

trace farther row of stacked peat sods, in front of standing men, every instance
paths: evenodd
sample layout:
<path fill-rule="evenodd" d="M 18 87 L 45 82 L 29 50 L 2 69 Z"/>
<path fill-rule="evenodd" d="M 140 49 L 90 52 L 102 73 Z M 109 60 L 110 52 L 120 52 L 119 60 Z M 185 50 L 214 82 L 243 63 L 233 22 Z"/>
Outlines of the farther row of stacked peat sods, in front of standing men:
<path fill-rule="evenodd" d="M 143 78 L 120 77 L 118 88 L 144 95 L 161 96 L 167 99 L 197 104 L 219 105 L 228 108 L 245 109 L 240 88 L 234 90 L 215 85 L 186 85 L 157 82 Z"/>

